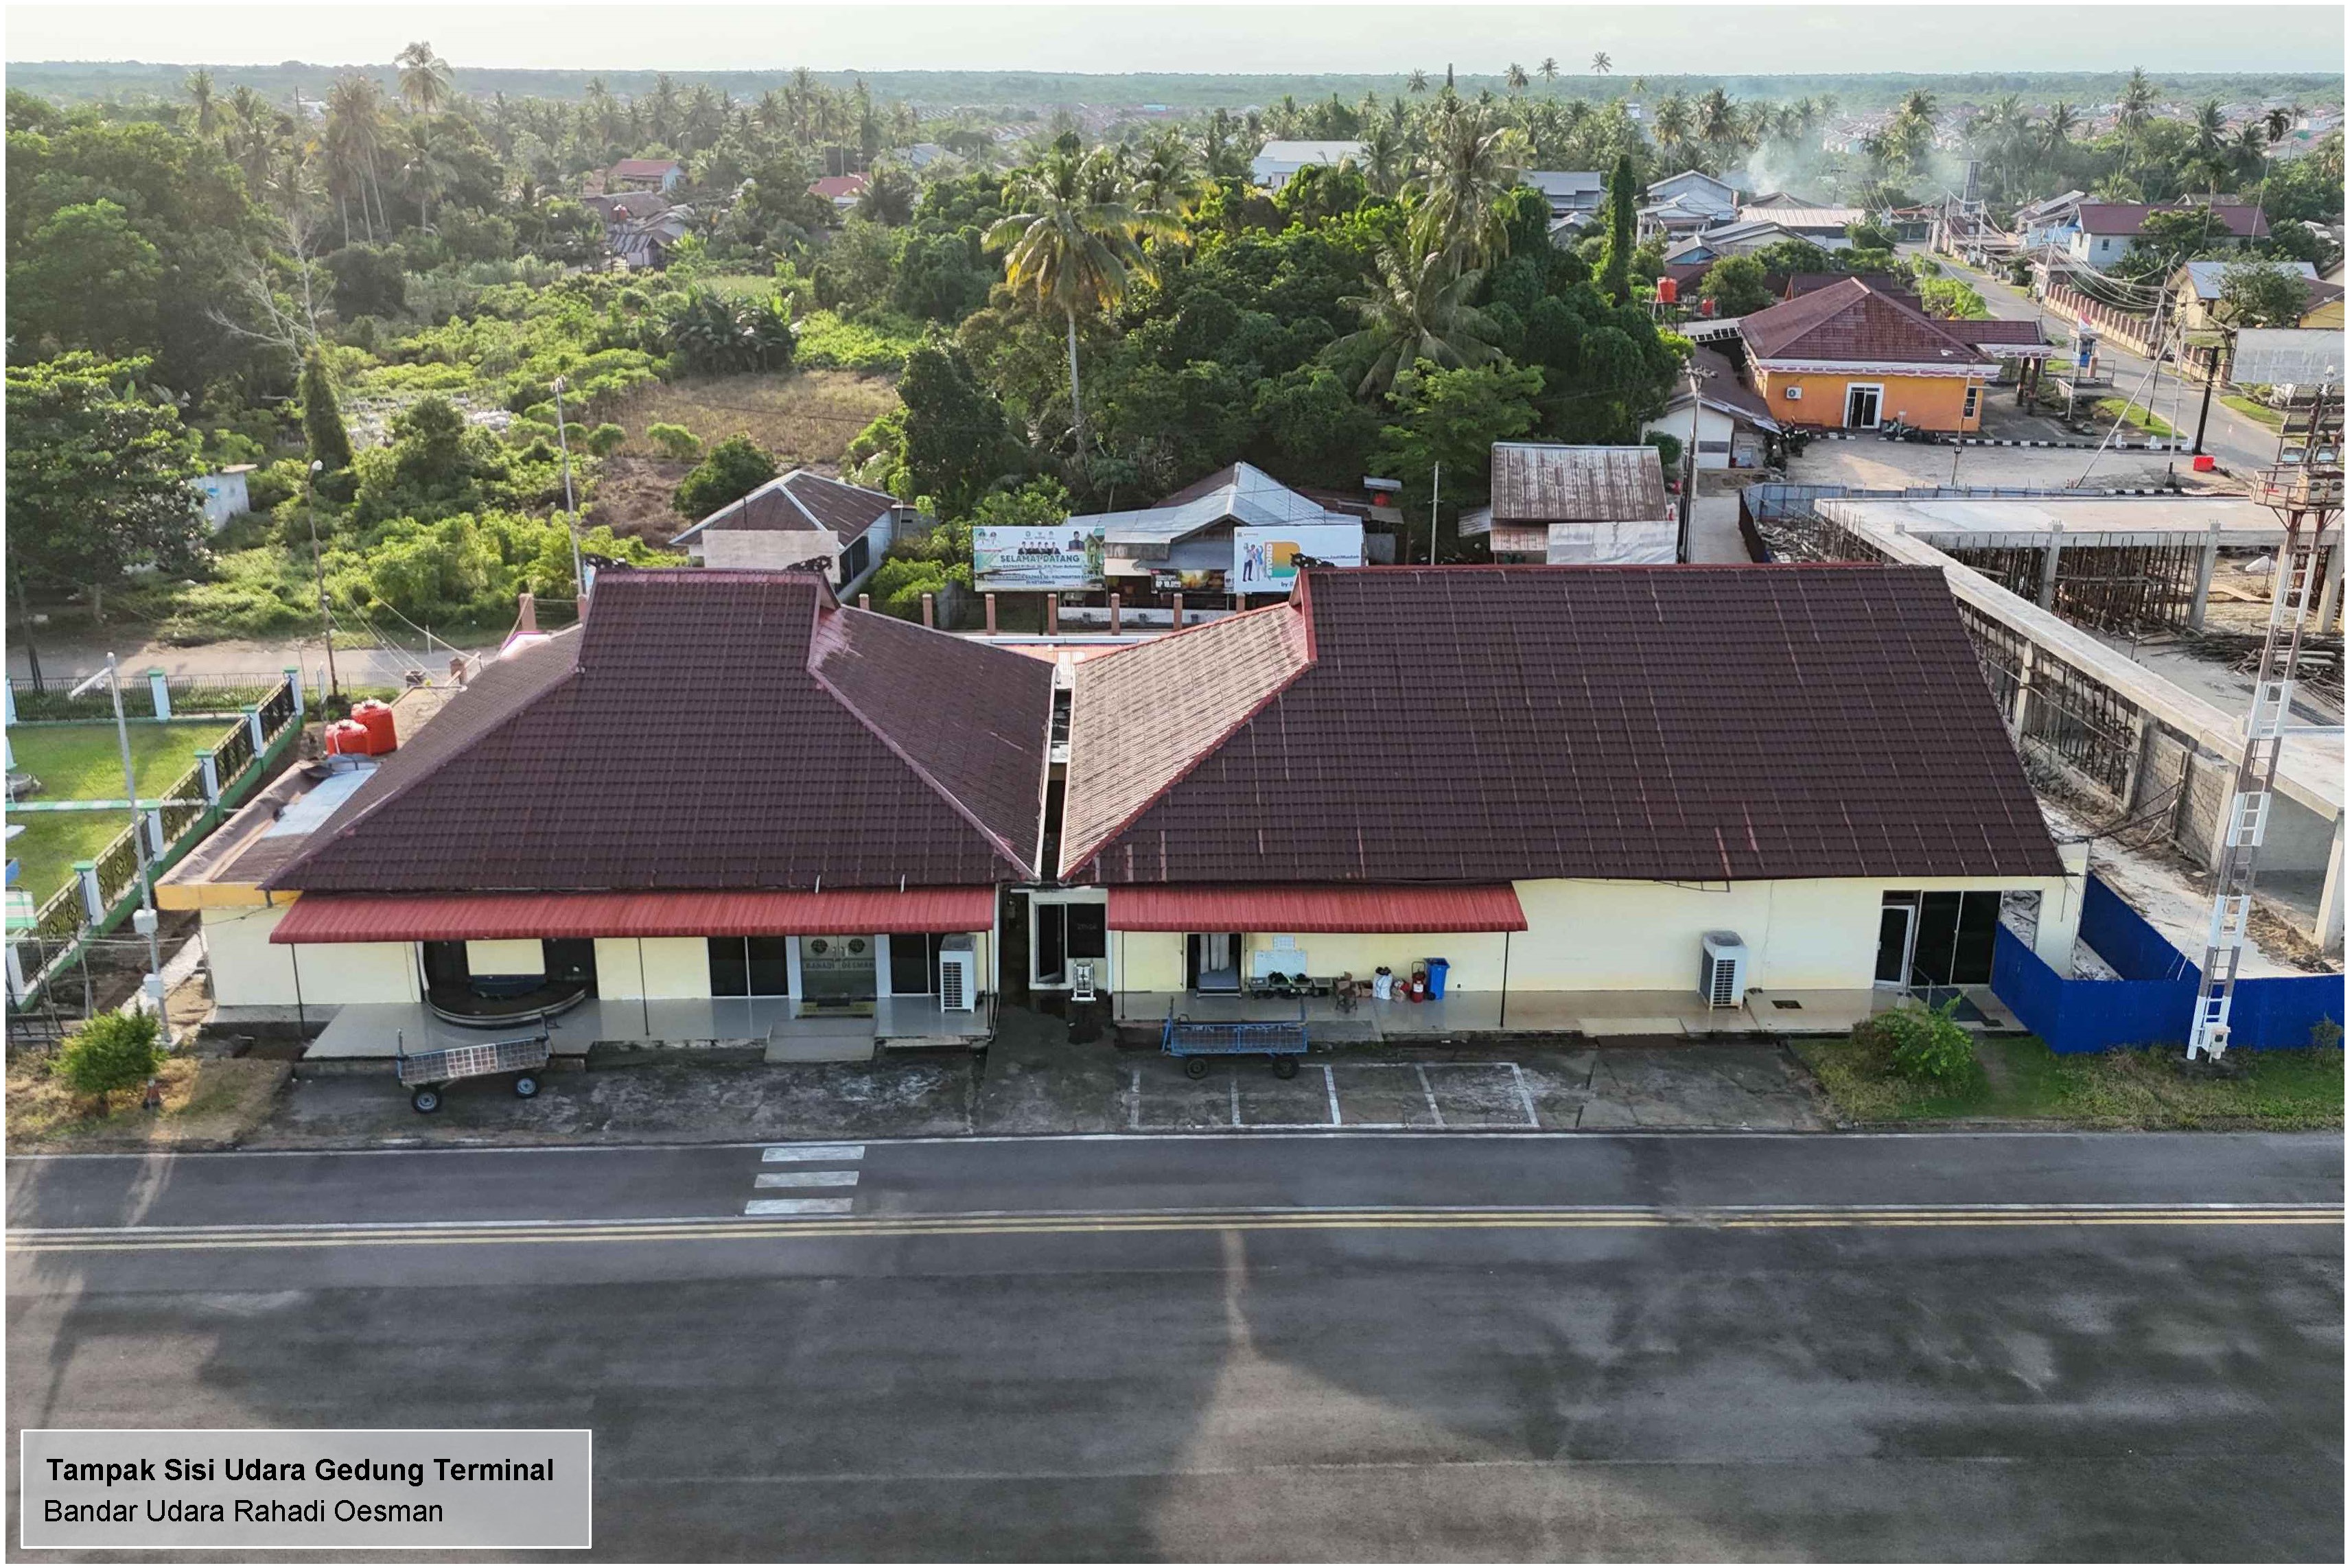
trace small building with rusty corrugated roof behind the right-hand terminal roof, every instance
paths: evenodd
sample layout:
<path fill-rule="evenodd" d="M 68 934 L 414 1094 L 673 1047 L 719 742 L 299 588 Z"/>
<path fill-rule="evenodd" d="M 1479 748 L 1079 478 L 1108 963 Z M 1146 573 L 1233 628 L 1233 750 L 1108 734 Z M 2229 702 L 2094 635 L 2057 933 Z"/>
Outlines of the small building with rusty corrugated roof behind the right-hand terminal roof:
<path fill-rule="evenodd" d="M 1463 538 L 1496 562 L 1668 564 L 1679 524 L 1656 447 L 1496 442 L 1491 501 L 1463 512 Z"/>

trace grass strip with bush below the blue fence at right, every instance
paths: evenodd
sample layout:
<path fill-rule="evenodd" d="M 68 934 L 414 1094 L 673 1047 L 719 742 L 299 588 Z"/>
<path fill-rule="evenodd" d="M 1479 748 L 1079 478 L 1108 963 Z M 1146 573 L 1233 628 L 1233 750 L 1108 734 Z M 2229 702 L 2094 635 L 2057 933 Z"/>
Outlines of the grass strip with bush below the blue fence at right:
<path fill-rule="evenodd" d="M 2239 1079 L 2190 1079 L 2178 1051 L 2056 1056 L 2039 1039 L 1978 1039 L 1964 1084 L 1931 1088 L 1896 1077 L 1851 1039 L 1797 1041 L 1797 1056 L 1853 1121 L 2063 1121 L 2112 1128 L 2338 1128 L 2345 1053 L 2237 1051 Z"/>

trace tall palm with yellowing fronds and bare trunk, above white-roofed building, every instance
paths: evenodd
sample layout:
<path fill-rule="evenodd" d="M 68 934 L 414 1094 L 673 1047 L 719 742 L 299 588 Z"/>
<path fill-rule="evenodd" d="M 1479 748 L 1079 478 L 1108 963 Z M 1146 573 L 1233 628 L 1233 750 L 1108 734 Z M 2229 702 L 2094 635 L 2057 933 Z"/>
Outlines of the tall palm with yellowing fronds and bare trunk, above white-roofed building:
<path fill-rule="evenodd" d="M 1004 252 L 1004 282 L 1033 294 L 1040 308 L 1061 310 L 1070 343 L 1070 433 L 1087 451 L 1087 409 L 1077 390 L 1077 313 L 1110 310 L 1127 284 L 1148 270 L 1145 233 L 1171 235 L 1181 226 L 1164 214 L 1143 214 L 1124 202 L 1098 200 L 1110 153 L 1056 146 L 1007 181 L 1011 216 L 990 226 L 988 249 Z"/>

